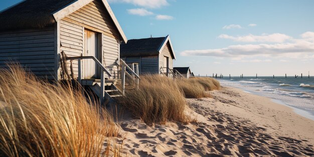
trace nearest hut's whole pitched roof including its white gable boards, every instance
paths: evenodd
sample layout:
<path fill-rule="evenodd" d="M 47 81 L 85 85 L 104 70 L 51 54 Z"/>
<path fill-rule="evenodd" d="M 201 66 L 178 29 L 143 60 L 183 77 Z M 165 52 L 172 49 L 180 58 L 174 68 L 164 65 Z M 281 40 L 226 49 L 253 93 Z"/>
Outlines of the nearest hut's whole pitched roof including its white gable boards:
<path fill-rule="evenodd" d="M 53 26 L 57 21 L 94 0 L 24 0 L 0 12 L 0 31 L 36 29 Z M 102 1 L 124 42 L 127 39 L 106 0 Z"/>

